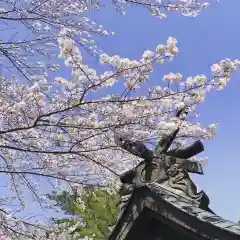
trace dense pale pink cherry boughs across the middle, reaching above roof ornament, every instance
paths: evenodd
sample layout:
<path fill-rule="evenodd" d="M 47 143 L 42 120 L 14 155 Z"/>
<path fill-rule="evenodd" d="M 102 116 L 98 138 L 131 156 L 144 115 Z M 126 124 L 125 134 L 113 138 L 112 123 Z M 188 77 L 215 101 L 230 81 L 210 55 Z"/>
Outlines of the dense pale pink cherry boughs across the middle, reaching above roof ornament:
<path fill-rule="evenodd" d="M 180 73 L 168 74 L 164 77 L 168 80 L 167 86 L 155 86 L 146 96 L 130 97 L 130 92 L 137 91 L 142 82 L 150 79 L 154 65 L 158 64 L 157 58 L 168 61 L 175 56 L 175 53 L 169 55 L 169 46 L 177 48 L 174 38 L 162 44 L 161 53 L 157 47 L 155 52 L 144 52 L 139 60 L 102 54 L 101 64 L 111 65 L 112 70 L 100 75 L 84 63 L 74 40 L 61 36 L 58 41 L 72 79 L 58 77 L 50 84 L 39 77 L 35 78 L 34 85 L 26 85 L 2 77 L 0 82 L 3 160 L 0 171 L 9 175 L 9 188 L 20 209 L 25 207 L 22 186 L 31 187 L 33 200 L 48 206 L 40 194 L 39 177 L 57 180 L 56 189 L 61 189 L 63 182 L 116 185 L 118 175 L 129 168 L 126 159 L 131 160 L 131 164 L 139 159 L 115 145 L 115 133 L 156 143 L 163 133 L 181 125 L 179 139 L 214 137 L 215 124 L 202 127 L 191 119 L 197 117 L 196 106 L 204 101 L 208 87 L 212 87 L 211 91 L 223 88 L 236 71 L 238 60 L 216 63 L 208 78 L 198 75 L 184 79 Z M 227 79 L 224 84 L 222 79 Z M 88 98 L 90 92 L 114 86 L 119 81 L 125 82 L 128 94 Z M 175 111 L 186 106 L 189 118 L 177 120 Z M 3 220 L 9 222 L 8 216 L 4 214 Z M 67 233 L 62 234 L 66 237 Z"/>

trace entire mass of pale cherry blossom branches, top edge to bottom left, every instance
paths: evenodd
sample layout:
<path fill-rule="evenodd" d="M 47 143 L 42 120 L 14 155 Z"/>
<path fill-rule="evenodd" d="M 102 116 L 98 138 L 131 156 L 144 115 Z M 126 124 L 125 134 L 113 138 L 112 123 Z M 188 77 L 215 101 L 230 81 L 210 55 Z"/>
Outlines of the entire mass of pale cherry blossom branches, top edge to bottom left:
<path fill-rule="evenodd" d="M 137 60 L 109 56 L 99 51 L 94 36 L 110 34 L 100 23 L 83 17 L 83 13 L 101 10 L 100 1 L 20 2 L 5 1 L 0 10 L 2 21 L 31 32 L 27 40 L 0 42 L 1 66 L 7 69 L 10 63 L 10 69 L 15 69 L 10 76 L 0 76 L 0 172 L 8 177 L 10 191 L 0 199 L 0 239 L 71 239 L 68 231 L 72 229 L 67 226 L 46 234 L 46 224 L 17 217 L 26 207 L 26 191 L 43 208 L 52 207 L 41 189 L 44 180 L 54 184 L 56 191 L 76 185 L 78 189 L 91 185 L 111 191 L 119 184 L 119 174 L 140 160 L 116 146 L 115 133 L 156 144 L 163 133 L 180 125 L 180 143 L 183 139 L 212 139 L 216 124 L 201 126 L 196 121 L 197 106 L 210 91 L 224 89 L 240 61 L 215 63 L 210 76 L 166 73 L 161 86 L 140 95 L 138 88 L 151 81 L 155 65 L 178 54 L 177 39 L 169 37 Z M 176 11 L 197 16 L 208 6 L 196 0 L 113 3 L 121 14 L 125 4 L 136 4 L 160 19 Z M 90 68 L 84 50 L 97 56 L 107 70 L 99 73 Z M 61 76 L 59 61 L 71 71 L 69 79 Z M 56 74 L 54 79 L 49 71 Z M 95 97 L 96 92 L 119 83 L 124 85 L 123 92 Z M 183 107 L 188 107 L 189 117 L 178 120 L 174 114 Z"/>

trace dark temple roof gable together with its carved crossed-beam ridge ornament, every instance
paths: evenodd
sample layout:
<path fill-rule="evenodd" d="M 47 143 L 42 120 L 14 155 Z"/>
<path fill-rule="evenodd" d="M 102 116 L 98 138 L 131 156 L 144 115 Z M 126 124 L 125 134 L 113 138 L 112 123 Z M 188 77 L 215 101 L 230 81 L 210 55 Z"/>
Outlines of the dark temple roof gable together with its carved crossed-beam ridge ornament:
<path fill-rule="evenodd" d="M 176 116 L 184 120 L 187 110 Z M 179 130 L 162 136 L 155 151 L 115 136 L 118 146 L 143 160 L 120 176 L 120 213 L 108 240 L 240 240 L 240 225 L 216 215 L 190 179 L 189 173 L 203 174 L 201 163 L 189 159 L 204 150 L 202 142 L 169 150 Z"/>

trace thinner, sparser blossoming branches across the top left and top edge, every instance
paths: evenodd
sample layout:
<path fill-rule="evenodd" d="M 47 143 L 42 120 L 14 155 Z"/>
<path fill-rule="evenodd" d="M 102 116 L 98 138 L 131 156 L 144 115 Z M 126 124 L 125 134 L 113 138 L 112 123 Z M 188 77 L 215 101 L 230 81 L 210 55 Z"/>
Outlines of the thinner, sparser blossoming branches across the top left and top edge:
<path fill-rule="evenodd" d="M 134 4 L 147 8 L 160 19 L 164 19 L 169 12 L 197 16 L 209 5 L 201 0 L 112 0 L 112 3 L 121 14 L 125 13 L 124 5 Z M 2 30 L 8 34 L 0 39 L 0 67 L 11 69 L 16 74 L 21 73 L 28 81 L 32 75 L 46 70 L 58 72 L 59 64 L 54 61 L 57 35 L 75 39 L 82 49 L 93 56 L 98 55 L 94 36 L 115 33 L 110 33 L 102 25 L 91 21 L 87 13 L 104 6 L 100 0 L 1 1 Z M 23 34 L 18 34 L 19 32 Z"/>

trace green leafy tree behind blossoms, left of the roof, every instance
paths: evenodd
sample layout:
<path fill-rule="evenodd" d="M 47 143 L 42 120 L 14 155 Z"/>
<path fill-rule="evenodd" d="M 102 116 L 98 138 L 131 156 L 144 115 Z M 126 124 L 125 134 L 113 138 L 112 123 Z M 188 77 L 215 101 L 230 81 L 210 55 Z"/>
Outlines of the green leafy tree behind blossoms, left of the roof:
<path fill-rule="evenodd" d="M 81 197 L 66 191 L 61 194 L 53 193 L 48 197 L 65 213 L 77 217 L 54 220 L 57 224 L 67 224 L 69 228 L 80 223 L 72 231 L 73 236 L 105 240 L 109 234 L 109 227 L 115 224 L 119 196 L 110 194 L 105 189 L 87 188 Z"/>

